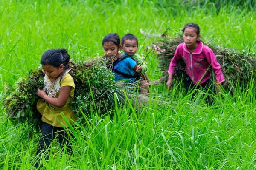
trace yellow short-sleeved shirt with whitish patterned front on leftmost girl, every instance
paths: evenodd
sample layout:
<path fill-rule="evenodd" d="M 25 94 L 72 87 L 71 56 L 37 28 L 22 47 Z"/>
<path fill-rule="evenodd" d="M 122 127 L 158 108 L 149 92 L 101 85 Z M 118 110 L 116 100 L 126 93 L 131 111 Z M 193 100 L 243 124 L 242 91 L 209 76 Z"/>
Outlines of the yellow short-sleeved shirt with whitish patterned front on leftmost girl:
<path fill-rule="evenodd" d="M 61 82 L 60 82 L 61 80 Z M 71 86 L 70 96 L 74 97 L 75 94 L 75 83 L 73 77 L 67 73 L 63 76 L 62 79 L 57 79 L 56 83 L 52 83 L 49 81 L 49 77 L 45 75 L 44 77 L 44 90 L 51 92 L 49 96 L 58 98 L 60 94 L 60 88 L 63 86 Z M 53 88 L 53 89 L 52 89 Z M 70 119 L 76 120 L 76 115 L 70 108 L 69 103 L 72 102 L 72 98 L 69 96 L 67 99 L 66 104 L 62 108 L 58 108 L 54 105 L 51 105 L 49 102 L 45 101 L 44 99 L 39 99 L 37 102 L 37 109 L 42 114 L 42 121 L 49 123 L 55 127 L 63 127 L 63 125 L 67 126 L 67 123 L 62 118 L 61 114 L 67 118 L 69 122 Z"/>

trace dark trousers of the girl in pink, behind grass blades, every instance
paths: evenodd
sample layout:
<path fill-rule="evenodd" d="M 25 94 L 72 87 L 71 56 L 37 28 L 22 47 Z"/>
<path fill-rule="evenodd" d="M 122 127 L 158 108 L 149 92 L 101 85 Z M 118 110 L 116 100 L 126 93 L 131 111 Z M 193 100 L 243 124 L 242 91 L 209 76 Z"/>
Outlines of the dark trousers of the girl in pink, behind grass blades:
<path fill-rule="evenodd" d="M 206 81 L 203 82 L 201 85 L 195 85 L 195 84 L 192 82 L 192 80 L 190 79 L 190 77 L 189 77 L 188 75 L 186 75 L 185 84 L 186 84 L 186 95 L 187 95 L 189 91 L 191 92 L 191 91 L 193 91 L 194 89 L 206 91 L 207 88 L 209 87 L 210 79 L 206 80 Z M 196 95 L 196 92 L 192 94 L 192 97 L 195 97 L 195 95 Z M 207 102 L 208 104 L 211 103 L 211 98 L 210 98 L 210 96 L 207 96 L 207 97 L 206 97 L 206 102 Z"/>

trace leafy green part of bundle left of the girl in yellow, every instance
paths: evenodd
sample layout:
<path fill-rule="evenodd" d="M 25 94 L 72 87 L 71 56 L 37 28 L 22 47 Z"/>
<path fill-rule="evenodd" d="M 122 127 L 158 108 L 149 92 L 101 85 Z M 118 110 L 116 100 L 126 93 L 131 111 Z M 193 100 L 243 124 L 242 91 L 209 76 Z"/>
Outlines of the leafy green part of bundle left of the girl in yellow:
<path fill-rule="evenodd" d="M 41 69 L 29 71 L 26 77 L 20 78 L 13 88 L 7 90 L 6 95 L 9 96 L 4 99 L 3 106 L 13 124 L 40 123 L 41 114 L 36 109 L 39 99 L 37 88 L 44 88 L 44 73 Z"/>

